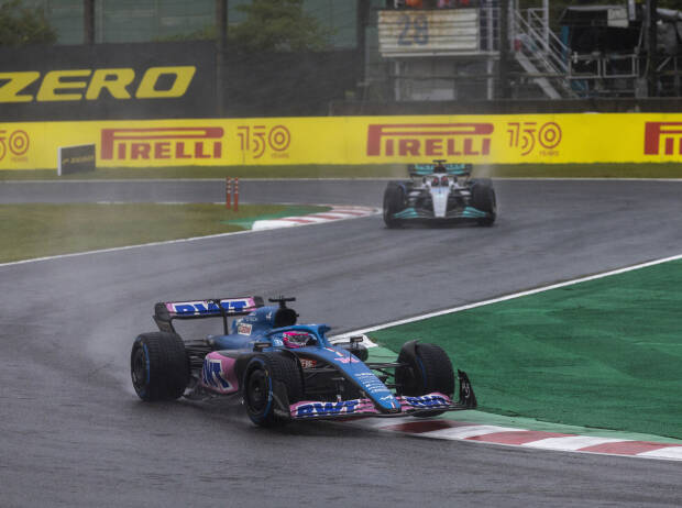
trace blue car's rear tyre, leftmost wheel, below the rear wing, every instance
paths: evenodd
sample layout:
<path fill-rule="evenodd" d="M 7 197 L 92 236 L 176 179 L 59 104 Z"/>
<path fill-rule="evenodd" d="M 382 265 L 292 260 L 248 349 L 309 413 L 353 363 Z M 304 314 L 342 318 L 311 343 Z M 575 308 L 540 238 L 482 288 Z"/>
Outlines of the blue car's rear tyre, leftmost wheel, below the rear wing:
<path fill-rule="evenodd" d="M 133 387 L 142 400 L 175 400 L 189 383 L 185 343 L 177 333 L 143 333 L 130 354 Z"/>

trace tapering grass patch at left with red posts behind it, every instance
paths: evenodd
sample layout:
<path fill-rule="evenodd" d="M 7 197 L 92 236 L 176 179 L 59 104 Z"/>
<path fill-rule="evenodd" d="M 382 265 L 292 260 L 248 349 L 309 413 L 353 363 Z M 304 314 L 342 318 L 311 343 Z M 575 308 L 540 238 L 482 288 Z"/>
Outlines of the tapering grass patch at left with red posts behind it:
<path fill-rule="evenodd" d="M 328 207 L 242 205 L 0 205 L 0 263 L 249 229 L 257 218 Z M 21 225 L 21 227 L 18 227 Z"/>

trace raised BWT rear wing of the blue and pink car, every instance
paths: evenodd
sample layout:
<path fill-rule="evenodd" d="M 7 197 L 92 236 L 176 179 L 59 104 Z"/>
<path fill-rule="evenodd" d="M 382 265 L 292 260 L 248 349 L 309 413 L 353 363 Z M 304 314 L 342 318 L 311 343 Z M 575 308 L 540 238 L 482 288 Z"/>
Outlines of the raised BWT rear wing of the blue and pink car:
<path fill-rule="evenodd" d="M 207 300 L 160 301 L 154 306 L 154 321 L 162 332 L 173 332 L 174 319 L 222 318 L 226 334 L 228 317 L 245 316 L 258 307 L 263 307 L 263 298 L 238 297 L 213 298 Z"/>

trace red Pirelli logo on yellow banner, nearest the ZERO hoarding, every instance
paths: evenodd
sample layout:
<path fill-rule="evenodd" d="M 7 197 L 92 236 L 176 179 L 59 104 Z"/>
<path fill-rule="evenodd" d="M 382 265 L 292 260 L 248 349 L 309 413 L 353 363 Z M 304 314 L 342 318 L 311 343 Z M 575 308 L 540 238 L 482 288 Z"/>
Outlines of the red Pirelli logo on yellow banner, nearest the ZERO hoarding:
<path fill-rule="evenodd" d="M 102 161 L 206 159 L 222 157 L 218 126 L 102 129 Z"/>

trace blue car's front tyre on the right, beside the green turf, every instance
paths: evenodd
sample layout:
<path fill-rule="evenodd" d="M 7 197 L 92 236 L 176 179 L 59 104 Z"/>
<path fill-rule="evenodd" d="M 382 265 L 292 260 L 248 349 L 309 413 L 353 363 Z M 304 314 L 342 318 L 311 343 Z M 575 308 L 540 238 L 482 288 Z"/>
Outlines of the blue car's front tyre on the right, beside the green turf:
<path fill-rule="evenodd" d="M 452 363 L 436 344 L 410 341 L 403 345 L 398 363 L 405 364 L 396 368 L 396 391 L 398 395 L 420 396 L 440 391 L 449 397 L 454 393 L 454 372 Z M 429 411 L 415 416 L 433 417 L 443 411 Z"/>

